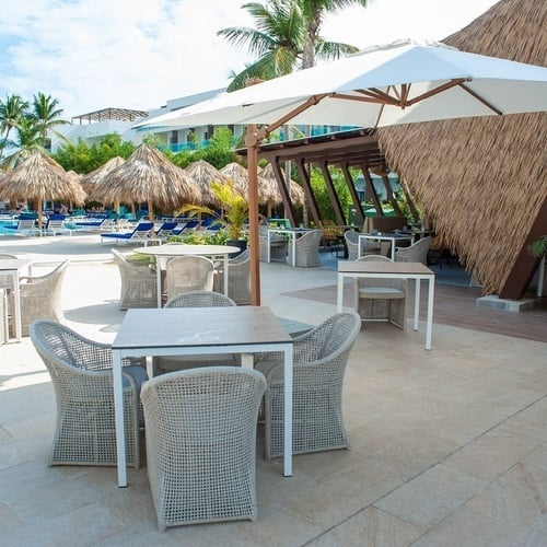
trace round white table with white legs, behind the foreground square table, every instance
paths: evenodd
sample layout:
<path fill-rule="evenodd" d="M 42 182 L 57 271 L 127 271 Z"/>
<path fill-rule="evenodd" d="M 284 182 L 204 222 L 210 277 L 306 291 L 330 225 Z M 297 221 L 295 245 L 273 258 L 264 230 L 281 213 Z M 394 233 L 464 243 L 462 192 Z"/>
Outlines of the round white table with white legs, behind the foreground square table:
<path fill-rule="evenodd" d="M 150 255 L 155 258 L 155 271 L 158 283 L 158 307 L 162 306 L 162 269 L 168 258 L 177 256 L 206 256 L 214 260 L 217 258 L 224 260 L 224 295 L 228 296 L 228 260 L 232 253 L 238 253 L 240 247 L 230 245 L 188 245 L 186 243 L 167 243 L 156 247 L 136 248 L 136 253 Z M 162 260 L 163 258 L 163 260 Z"/>

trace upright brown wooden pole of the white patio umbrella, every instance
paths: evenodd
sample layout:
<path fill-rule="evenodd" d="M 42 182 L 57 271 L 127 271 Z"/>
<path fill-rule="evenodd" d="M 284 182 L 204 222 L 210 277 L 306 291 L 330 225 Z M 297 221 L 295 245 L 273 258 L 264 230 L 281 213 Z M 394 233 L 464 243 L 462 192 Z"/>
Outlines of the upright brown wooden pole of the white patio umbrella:
<path fill-rule="evenodd" d="M 248 243 L 251 270 L 251 304 L 260 305 L 260 271 L 258 265 L 258 139 L 256 126 L 247 127 L 247 172 L 248 172 Z"/>

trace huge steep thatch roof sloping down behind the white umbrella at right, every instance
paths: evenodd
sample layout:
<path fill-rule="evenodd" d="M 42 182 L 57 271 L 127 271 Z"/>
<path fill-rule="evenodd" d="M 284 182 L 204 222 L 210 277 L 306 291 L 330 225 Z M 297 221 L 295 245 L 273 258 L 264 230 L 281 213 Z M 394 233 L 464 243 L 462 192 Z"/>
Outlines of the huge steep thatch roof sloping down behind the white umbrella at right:
<path fill-rule="evenodd" d="M 547 2 L 501 0 L 443 42 L 545 66 L 546 28 Z M 485 293 L 502 293 L 547 200 L 547 114 L 409 124 L 377 136 L 442 241 Z"/>

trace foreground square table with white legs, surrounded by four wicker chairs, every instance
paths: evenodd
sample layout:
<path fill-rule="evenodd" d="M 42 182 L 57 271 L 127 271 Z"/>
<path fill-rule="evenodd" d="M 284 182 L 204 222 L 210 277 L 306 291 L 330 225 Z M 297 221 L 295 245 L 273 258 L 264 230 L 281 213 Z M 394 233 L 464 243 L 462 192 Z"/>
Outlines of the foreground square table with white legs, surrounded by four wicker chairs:
<path fill-rule="evenodd" d="M 121 360 L 126 357 L 241 353 L 253 368 L 253 354 L 279 351 L 284 362 L 283 475 L 292 475 L 293 339 L 266 306 L 172 307 L 128 310 L 112 344 L 118 486 L 127 486 Z M 148 369 L 150 369 L 148 366 Z"/>

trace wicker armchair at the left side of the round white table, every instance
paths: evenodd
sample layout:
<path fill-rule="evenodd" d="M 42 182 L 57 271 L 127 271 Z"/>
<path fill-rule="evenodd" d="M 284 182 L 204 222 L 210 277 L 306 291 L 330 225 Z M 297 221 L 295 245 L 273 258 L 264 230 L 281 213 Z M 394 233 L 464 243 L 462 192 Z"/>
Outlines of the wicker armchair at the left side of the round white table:
<path fill-rule="evenodd" d="M 110 249 L 119 269 L 121 287 L 119 309 L 155 307 L 158 305 L 156 276 L 149 263 L 131 260 L 115 248 Z"/>

